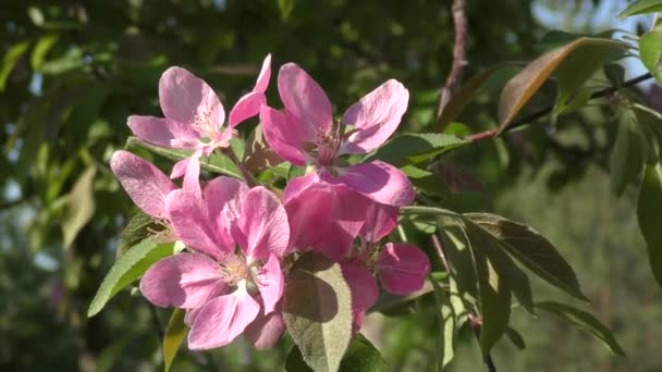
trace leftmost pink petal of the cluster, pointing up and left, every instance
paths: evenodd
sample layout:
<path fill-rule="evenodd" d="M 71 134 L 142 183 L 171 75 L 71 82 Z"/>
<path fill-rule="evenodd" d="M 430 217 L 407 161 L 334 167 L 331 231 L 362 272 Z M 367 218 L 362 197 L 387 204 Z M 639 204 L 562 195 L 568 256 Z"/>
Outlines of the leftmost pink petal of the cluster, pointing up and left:
<path fill-rule="evenodd" d="M 158 168 L 119 150 L 110 159 L 110 169 L 136 206 L 151 216 L 166 218 L 166 197 L 176 187 Z"/>

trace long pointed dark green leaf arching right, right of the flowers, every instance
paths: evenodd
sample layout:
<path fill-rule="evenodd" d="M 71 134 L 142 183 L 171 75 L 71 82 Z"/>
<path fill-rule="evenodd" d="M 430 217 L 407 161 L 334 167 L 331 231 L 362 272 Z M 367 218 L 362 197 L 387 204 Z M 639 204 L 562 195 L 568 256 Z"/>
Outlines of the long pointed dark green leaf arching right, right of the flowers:
<path fill-rule="evenodd" d="M 499 239 L 511 256 L 536 275 L 556 288 L 588 301 L 579 288 L 573 268 L 540 233 L 527 225 L 494 214 L 465 215 Z"/>

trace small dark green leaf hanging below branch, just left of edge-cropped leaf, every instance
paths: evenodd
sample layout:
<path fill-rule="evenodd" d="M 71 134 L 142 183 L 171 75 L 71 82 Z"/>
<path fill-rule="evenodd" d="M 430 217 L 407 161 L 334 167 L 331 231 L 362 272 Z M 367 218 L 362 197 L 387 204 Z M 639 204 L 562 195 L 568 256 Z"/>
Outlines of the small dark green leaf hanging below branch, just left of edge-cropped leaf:
<path fill-rule="evenodd" d="M 611 185 L 616 195 L 623 194 L 625 187 L 637 179 L 645 161 L 635 112 L 625 110 L 621 119 L 610 158 Z"/>

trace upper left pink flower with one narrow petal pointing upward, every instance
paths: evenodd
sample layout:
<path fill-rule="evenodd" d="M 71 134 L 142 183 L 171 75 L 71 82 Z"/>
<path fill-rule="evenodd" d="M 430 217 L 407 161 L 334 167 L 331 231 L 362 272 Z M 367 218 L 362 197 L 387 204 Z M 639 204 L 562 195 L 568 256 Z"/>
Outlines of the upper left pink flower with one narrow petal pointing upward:
<path fill-rule="evenodd" d="M 223 127 L 225 111 L 213 89 L 182 67 L 170 67 L 159 80 L 159 103 L 166 117 L 128 116 L 128 127 L 139 139 L 156 146 L 192 149 L 193 159 L 216 148 L 230 146 L 234 127 L 259 113 L 267 102 L 265 91 L 271 76 L 271 54 L 267 55 L 253 91 L 242 97 Z M 187 172 L 188 159 L 175 164 L 171 177 Z M 195 166 L 194 166 L 195 168 Z"/>

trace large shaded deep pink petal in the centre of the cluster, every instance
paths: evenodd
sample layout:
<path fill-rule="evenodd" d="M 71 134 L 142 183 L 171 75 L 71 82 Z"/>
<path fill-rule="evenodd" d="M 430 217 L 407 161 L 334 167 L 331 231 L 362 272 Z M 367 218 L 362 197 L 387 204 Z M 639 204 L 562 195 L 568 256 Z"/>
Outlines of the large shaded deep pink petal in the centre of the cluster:
<path fill-rule="evenodd" d="M 346 256 L 364 223 L 367 200 L 344 184 L 311 184 L 285 202 L 290 246 L 340 260 Z"/>

